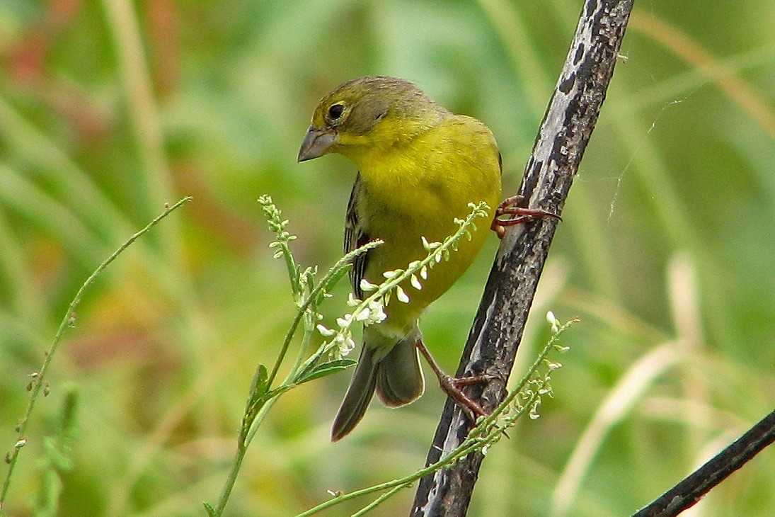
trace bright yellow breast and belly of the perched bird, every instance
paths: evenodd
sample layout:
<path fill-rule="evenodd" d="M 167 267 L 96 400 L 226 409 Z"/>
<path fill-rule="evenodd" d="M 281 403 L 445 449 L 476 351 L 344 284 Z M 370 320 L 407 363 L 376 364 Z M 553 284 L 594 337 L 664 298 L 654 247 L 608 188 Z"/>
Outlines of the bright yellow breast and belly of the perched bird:
<path fill-rule="evenodd" d="M 356 212 L 371 239 L 383 246 L 370 251 L 365 277 L 384 281 L 384 271 L 405 269 L 427 256 L 422 237 L 441 242 L 459 228 L 453 219 L 470 214 L 469 203 L 487 202 L 491 215 L 501 198 L 498 148 L 489 130 L 474 119 L 456 117 L 457 126 L 420 137 L 412 150 L 394 150 L 394 156 L 360 164 L 363 185 Z M 451 131 L 451 136 L 450 136 Z M 448 261 L 436 264 L 422 281 L 422 290 L 408 282 L 401 287 L 410 302 L 391 298 L 381 331 L 405 334 L 431 302 L 443 295 L 481 250 L 491 219 L 477 220 L 472 240 L 463 237 Z"/>

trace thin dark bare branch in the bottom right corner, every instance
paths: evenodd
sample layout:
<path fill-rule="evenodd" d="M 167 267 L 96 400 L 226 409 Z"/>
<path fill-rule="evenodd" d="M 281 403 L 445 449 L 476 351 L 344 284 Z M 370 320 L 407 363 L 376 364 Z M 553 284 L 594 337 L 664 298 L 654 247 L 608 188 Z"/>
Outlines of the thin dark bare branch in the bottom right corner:
<path fill-rule="evenodd" d="M 711 488 L 742 467 L 766 446 L 775 441 L 775 410 L 756 426 L 736 439 L 708 463 L 694 470 L 679 484 L 641 508 L 633 517 L 672 517 L 699 501 Z"/>

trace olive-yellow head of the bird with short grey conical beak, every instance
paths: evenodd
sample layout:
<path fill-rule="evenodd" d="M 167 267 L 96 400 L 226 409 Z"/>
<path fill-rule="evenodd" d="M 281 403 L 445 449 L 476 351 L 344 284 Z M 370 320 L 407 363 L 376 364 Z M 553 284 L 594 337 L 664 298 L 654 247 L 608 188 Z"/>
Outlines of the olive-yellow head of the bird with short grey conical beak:
<path fill-rule="evenodd" d="M 374 153 L 411 141 L 448 113 L 403 79 L 353 79 L 319 102 L 298 160 L 339 153 L 357 164 Z"/>

